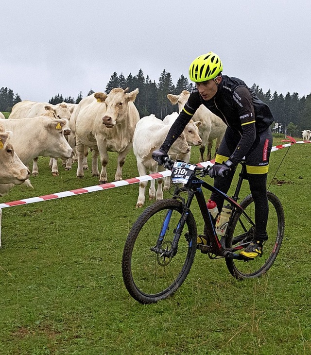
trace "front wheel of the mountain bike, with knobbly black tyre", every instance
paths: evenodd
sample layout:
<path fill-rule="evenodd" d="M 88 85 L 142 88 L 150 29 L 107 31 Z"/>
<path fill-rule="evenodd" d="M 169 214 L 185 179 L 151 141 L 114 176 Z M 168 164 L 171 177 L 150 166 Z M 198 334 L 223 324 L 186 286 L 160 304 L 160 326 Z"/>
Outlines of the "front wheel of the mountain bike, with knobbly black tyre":
<path fill-rule="evenodd" d="M 159 249 L 152 250 L 164 229 L 161 249 L 171 249 L 182 212 L 183 205 L 176 199 L 157 201 L 138 217 L 127 236 L 122 257 L 123 281 L 130 295 L 142 304 L 171 296 L 190 272 L 197 243 L 196 223 L 190 211 L 177 254 L 167 257 Z"/>

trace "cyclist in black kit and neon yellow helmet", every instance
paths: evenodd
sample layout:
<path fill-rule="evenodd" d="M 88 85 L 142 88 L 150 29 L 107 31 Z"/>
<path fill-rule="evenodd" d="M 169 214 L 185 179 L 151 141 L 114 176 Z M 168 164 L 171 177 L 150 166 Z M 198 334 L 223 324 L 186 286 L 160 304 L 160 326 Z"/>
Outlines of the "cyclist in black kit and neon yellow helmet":
<path fill-rule="evenodd" d="M 159 165 L 168 156 L 168 151 L 182 133 L 201 104 L 219 116 L 227 125 L 225 136 L 217 151 L 215 164 L 209 170 L 214 186 L 227 193 L 236 166 L 245 157 L 248 182 L 255 203 L 255 232 L 253 241 L 241 254 L 254 259 L 263 252 L 263 242 L 268 239 L 267 174 L 272 147 L 270 125 L 274 118 L 269 106 L 238 78 L 222 75 L 223 64 L 213 52 L 200 55 L 190 64 L 190 80 L 196 87 L 176 121 L 173 123 L 159 150 L 152 157 Z M 211 194 L 219 211 L 224 204 L 218 193 Z M 202 244 L 208 243 L 207 237 Z"/>

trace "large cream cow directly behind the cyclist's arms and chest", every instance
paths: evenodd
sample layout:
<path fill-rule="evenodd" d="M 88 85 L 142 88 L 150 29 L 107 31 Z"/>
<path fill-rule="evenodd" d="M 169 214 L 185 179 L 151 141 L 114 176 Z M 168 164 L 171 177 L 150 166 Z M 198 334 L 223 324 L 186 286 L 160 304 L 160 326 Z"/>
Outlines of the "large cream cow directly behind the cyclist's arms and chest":
<path fill-rule="evenodd" d="M 180 112 L 190 96 L 190 92 L 183 90 L 179 95 L 168 94 L 167 98 L 173 105 L 178 103 L 178 112 Z M 225 135 L 226 125 L 218 116 L 210 112 L 207 107 L 201 105 L 192 117 L 193 121 L 201 121 L 202 124 L 199 127 L 199 134 L 202 138 L 202 145 L 200 147 L 200 162 L 204 161 L 205 146 L 207 145 L 206 160 L 211 159 L 212 141 L 217 139 L 217 149 Z"/>

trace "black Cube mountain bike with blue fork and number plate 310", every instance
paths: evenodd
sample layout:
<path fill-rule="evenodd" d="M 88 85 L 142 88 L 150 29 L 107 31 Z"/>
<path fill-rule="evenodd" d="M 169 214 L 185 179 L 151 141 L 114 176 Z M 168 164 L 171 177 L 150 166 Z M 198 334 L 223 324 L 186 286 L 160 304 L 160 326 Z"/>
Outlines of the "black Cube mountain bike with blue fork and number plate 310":
<path fill-rule="evenodd" d="M 259 277 L 269 270 L 276 259 L 284 236 L 285 219 L 281 202 L 267 191 L 269 218 L 268 240 L 263 255 L 247 259 L 240 252 L 253 239 L 254 200 L 246 196 L 239 204 L 242 182 L 247 179 L 242 162 L 237 186 L 232 197 L 203 181 L 210 167 L 173 161 L 166 158 L 164 166 L 172 170 L 173 197 L 156 201 L 147 207 L 133 224 L 123 250 L 122 276 L 130 295 L 142 304 L 151 304 L 171 296 L 188 276 L 197 251 L 209 258 L 225 258 L 229 272 L 237 279 Z M 223 237 L 219 237 L 214 219 L 207 209 L 203 189 L 220 193 L 232 210 Z M 207 245 L 197 245 L 197 225 L 191 210 L 196 198 L 204 220 Z"/>

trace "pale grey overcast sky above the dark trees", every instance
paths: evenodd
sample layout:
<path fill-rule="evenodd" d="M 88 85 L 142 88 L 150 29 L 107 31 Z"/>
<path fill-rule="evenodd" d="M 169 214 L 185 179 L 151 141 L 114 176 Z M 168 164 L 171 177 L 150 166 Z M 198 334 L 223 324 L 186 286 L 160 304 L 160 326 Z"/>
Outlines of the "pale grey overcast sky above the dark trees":
<path fill-rule="evenodd" d="M 104 91 L 113 72 L 188 77 L 208 51 L 223 73 L 311 93 L 310 0 L 10 0 L 0 6 L 0 87 L 22 100 Z"/>

